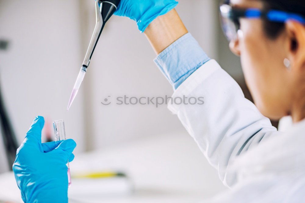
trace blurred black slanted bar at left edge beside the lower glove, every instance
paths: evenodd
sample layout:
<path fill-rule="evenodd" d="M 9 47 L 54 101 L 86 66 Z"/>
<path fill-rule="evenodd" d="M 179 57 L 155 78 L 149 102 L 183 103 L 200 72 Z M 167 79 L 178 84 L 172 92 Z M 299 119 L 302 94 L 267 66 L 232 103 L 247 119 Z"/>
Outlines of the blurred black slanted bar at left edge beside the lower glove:
<path fill-rule="evenodd" d="M 1 88 L 0 88 L 1 89 Z M 12 166 L 16 158 L 16 150 L 18 148 L 15 133 L 6 113 L 2 94 L 0 91 L 0 128 L 9 166 Z M 12 167 L 9 167 L 12 170 Z"/>

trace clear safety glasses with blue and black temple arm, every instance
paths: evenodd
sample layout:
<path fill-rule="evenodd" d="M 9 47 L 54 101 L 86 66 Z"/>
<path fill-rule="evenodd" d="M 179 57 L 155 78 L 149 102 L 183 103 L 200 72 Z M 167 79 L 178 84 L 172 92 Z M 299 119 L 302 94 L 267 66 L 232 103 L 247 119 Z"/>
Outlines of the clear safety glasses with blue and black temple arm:
<path fill-rule="evenodd" d="M 256 8 L 236 9 L 230 4 L 220 6 L 222 30 L 229 41 L 237 38 L 240 30 L 240 18 L 266 19 L 271 22 L 285 23 L 288 20 L 296 20 L 305 25 L 305 18 L 301 15 L 279 10 L 260 10 Z"/>

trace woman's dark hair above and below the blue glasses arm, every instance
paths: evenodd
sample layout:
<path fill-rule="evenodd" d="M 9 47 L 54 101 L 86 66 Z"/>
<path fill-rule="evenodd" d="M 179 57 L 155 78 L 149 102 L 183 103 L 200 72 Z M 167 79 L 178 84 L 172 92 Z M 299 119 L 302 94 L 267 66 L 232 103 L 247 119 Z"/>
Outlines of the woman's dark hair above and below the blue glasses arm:
<path fill-rule="evenodd" d="M 265 9 L 277 9 L 300 14 L 305 17 L 304 0 L 261 0 Z M 265 20 L 264 29 L 268 37 L 275 39 L 284 30 L 284 23 L 275 23 Z"/>

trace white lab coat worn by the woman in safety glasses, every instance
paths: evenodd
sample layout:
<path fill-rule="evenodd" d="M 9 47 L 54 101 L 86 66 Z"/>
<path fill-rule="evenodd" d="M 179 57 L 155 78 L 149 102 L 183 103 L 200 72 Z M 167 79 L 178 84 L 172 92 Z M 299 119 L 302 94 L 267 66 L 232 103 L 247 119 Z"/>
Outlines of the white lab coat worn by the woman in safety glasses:
<path fill-rule="evenodd" d="M 304 121 L 287 134 L 277 131 L 215 60 L 198 68 L 172 97 L 183 96 L 204 97 L 204 104 L 168 108 L 232 187 L 213 202 L 295 202 L 284 201 L 288 193 L 305 202 L 305 176 L 296 183 L 305 172 Z"/>

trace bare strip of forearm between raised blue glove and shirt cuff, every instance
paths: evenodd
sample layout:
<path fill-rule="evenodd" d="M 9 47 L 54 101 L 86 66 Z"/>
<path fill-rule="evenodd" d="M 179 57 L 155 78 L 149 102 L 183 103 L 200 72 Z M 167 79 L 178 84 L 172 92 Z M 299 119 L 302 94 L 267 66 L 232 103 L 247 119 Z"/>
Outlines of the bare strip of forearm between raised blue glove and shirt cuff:
<path fill-rule="evenodd" d="M 157 17 L 145 30 L 156 54 L 160 54 L 174 41 L 188 33 L 175 9 L 163 16 Z"/>

